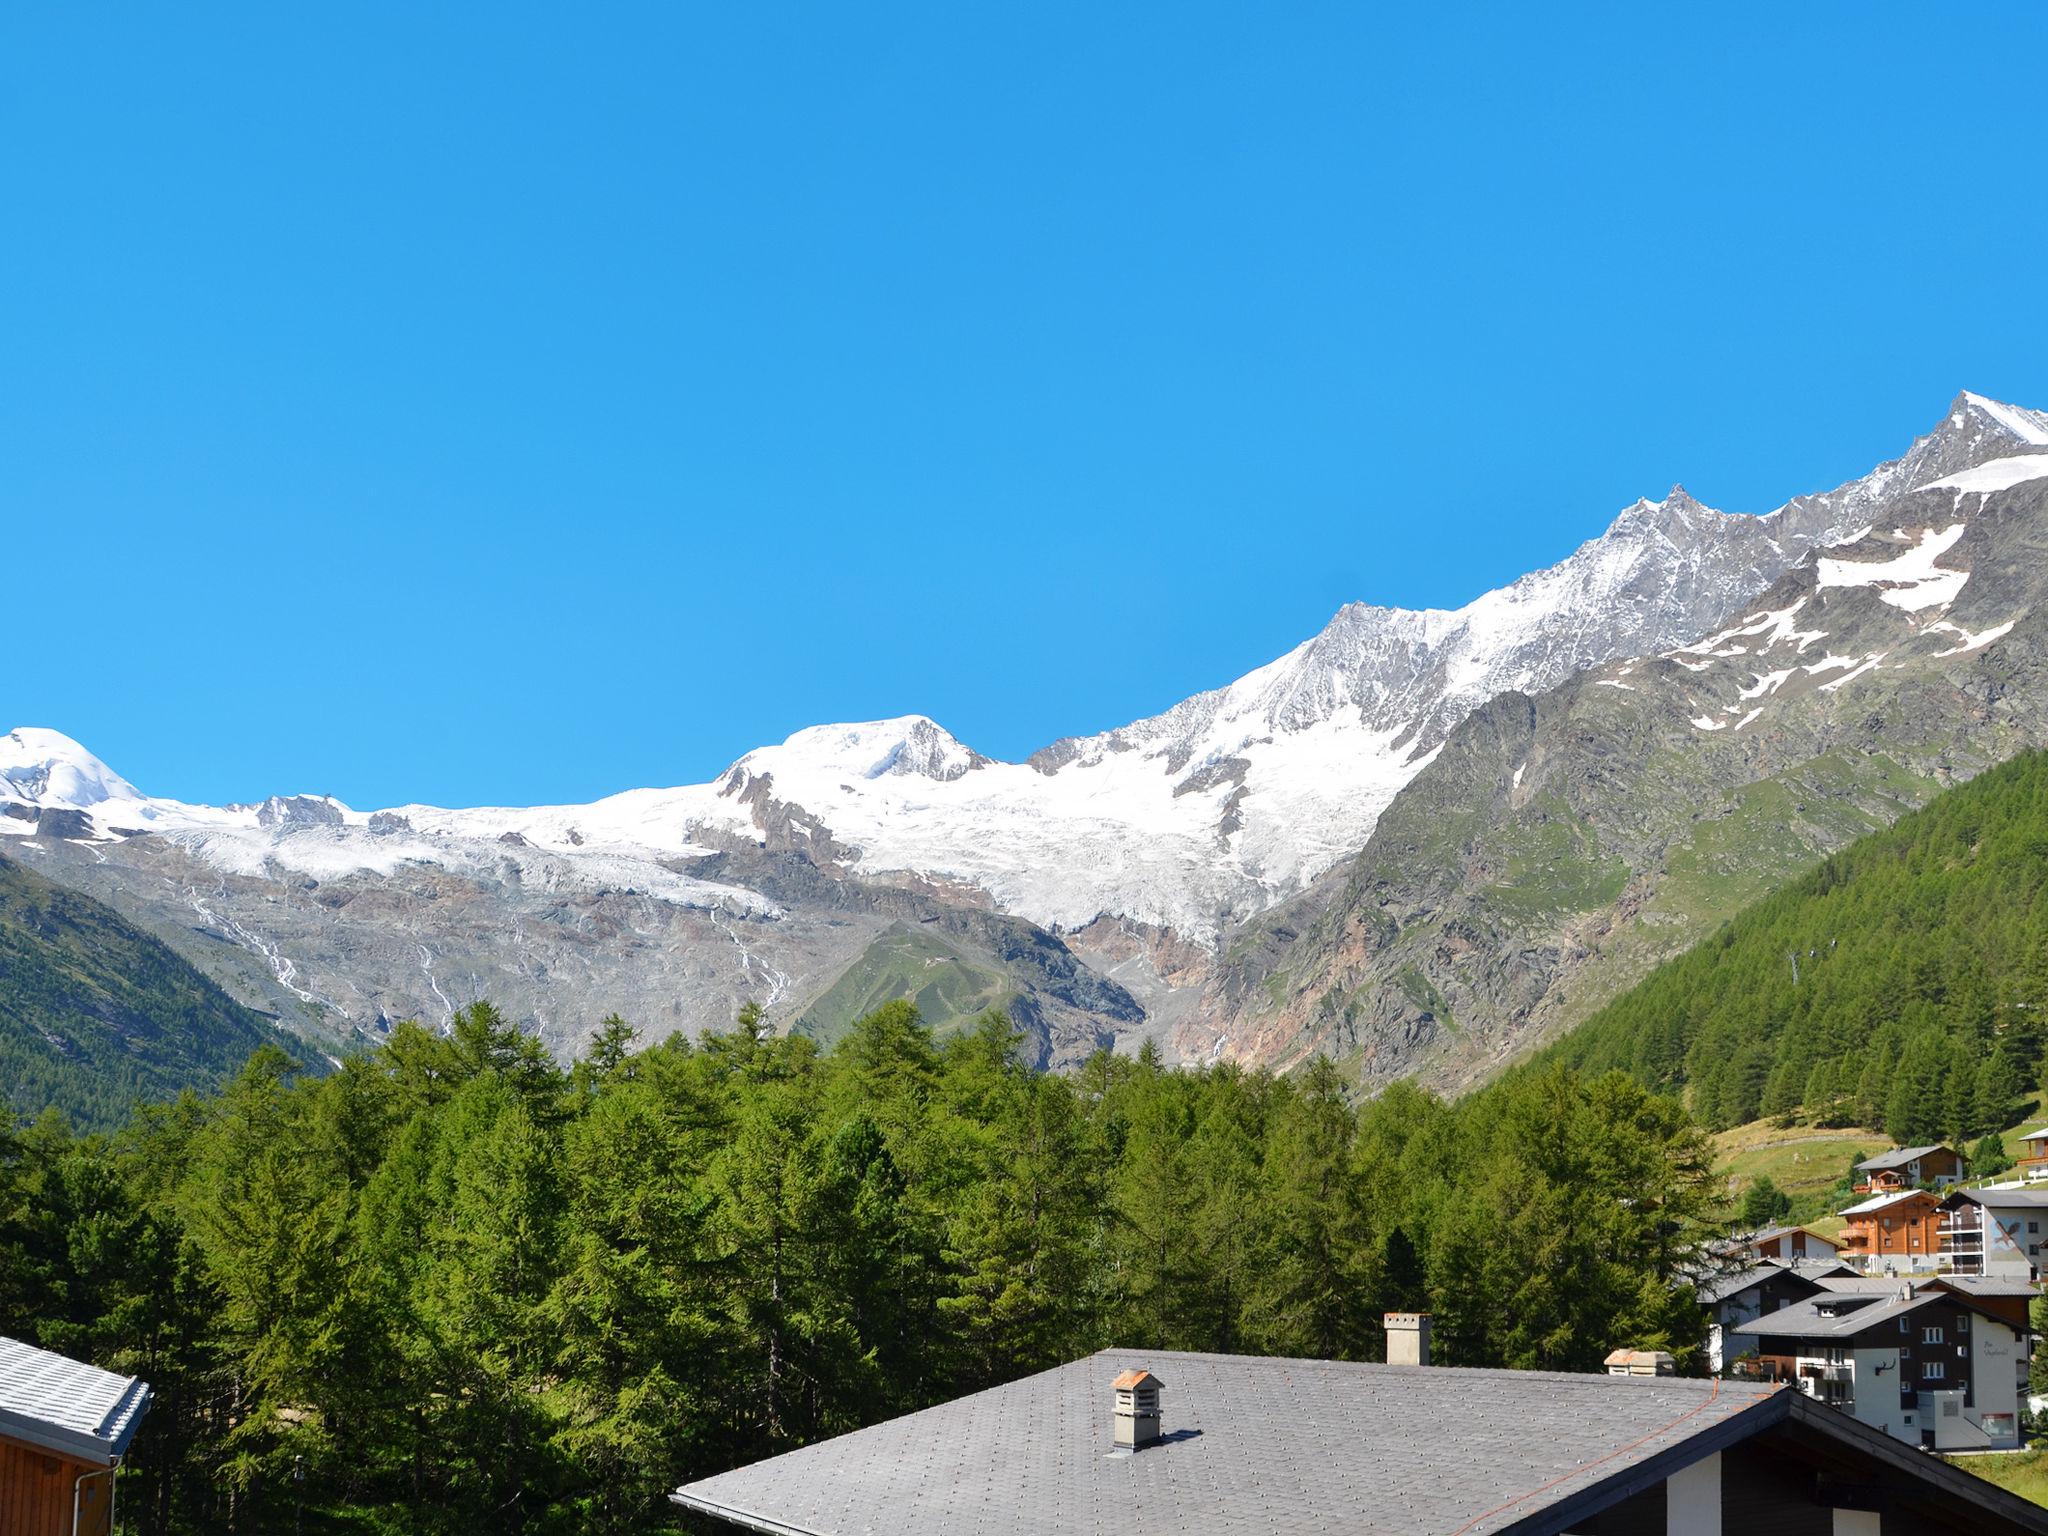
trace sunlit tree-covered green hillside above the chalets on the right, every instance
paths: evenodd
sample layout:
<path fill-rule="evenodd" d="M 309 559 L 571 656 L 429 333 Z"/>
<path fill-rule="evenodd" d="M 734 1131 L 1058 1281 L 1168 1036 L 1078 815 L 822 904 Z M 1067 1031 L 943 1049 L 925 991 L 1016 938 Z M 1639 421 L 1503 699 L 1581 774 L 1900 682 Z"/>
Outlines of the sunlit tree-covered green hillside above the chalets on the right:
<path fill-rule="evenodd" d="M 1745 909 L 1546 1053 L 1686 1090 L 1724 1128 L 2011 1122 L 2048 1012 L 2048 756 L 1948 791 Z"/>

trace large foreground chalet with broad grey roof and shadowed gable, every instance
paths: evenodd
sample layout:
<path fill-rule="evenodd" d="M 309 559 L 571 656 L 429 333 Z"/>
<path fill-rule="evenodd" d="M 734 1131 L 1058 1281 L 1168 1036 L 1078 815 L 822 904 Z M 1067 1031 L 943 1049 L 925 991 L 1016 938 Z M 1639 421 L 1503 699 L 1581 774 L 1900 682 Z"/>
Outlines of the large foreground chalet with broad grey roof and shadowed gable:
<path fill-rule="evenodd" d="M 1161 1405 L 1130 1448 L 1124 1372 Z M 758 1536 L 2048 1536 L 1784 1384 L 1130 1350 L 670 1497 Z"/>

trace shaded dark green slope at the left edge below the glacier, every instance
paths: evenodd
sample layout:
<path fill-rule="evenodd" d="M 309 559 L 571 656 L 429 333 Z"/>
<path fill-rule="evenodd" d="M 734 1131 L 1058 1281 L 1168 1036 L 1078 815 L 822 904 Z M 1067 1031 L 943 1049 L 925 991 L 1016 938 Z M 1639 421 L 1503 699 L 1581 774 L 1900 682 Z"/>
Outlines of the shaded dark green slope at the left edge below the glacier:
<path fill-rule="evenodd" d="M 156 938 L 0 858 L 0 1106 L 121 1124 L 137 1100 L 215 1087 L 264 1042 L 299 1053 Z"/>

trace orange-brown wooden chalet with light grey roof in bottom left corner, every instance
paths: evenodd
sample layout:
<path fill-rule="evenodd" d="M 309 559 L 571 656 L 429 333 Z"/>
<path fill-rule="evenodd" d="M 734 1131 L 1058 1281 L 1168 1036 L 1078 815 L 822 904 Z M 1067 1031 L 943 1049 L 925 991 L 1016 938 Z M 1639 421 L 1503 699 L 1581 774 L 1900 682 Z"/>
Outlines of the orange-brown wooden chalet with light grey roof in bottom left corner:
<path fill-rule="evenodd" d="M 147 1411 L 147 1382 L 0 1337 L 0 1532 L 106 1536 Z"/>

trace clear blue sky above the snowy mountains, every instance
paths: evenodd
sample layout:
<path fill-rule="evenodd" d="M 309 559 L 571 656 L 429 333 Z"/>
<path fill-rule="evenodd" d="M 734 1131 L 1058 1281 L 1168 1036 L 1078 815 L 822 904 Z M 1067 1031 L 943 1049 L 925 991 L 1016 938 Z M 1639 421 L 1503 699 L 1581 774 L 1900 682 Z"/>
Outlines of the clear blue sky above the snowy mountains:
<path fill-rule="evenodd" d="M 356 805 L 1104 729 L 2048 406 L 2044 57 L 2032 4 L 12 6 L 0 729 Z"/>

